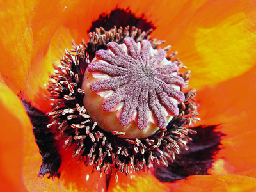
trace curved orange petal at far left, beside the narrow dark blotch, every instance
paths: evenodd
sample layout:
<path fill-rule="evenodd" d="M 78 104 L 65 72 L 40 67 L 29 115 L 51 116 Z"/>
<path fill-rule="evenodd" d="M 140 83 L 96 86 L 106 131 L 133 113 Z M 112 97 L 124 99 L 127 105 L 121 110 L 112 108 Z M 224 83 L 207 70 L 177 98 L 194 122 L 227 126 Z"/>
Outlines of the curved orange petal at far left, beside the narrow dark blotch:
<path fill-rule="evenodd" d="M 0 191 L 26 191 L 22 180 L 24 129 L 31 129 L 20 99 L 0 83 Z"/>

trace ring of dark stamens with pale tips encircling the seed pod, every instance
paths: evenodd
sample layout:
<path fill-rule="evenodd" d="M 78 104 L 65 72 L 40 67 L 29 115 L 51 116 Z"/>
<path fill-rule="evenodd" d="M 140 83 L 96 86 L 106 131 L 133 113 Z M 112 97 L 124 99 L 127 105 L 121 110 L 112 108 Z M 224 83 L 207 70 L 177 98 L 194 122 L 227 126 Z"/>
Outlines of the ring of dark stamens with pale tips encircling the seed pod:
<path fill-rule="evenodd" d="M 180 153 L 180 148 L 185 148 L 189 134 L 195 134 L 189 126 L 196 118 L 197 106 L 194 103 L 195 92 L 189 90 L 185 93 L 184 102 L 178 105 L 179 115 L 175 116 L 165 129 L 159 129 L 148 138 L 125 139 L 120 138 L 124 132 L 106 132 L 93 122 L 83 106 L 84 90 L 81 89 L 84 72 L 88 64 L 95 57 L 97 49 L 106 49 L 108 42 L 122 44 L 126 36 L 130 36 L 136 42 L 150 39 L 149 33 L 141 33 L 134 27 L 113 28 L 104 31 L 96 29 L 90 33 L 88 43 L 75 45 L 74 49 L 66 49 L 65 56 L 61 60 L 60 67 L 52 74 L 49 82 L 48 99 L 54 100 L 52 111 L 48 113 L 52 117 L 47 126 L 56 133 L 58 140 L 63 140 L 63 147 L 74 145 L 73 157 L 84 161 L 86 166 L 93 165 L 94 170 L 101 173 L 124 173 L 131 171 L 150 170 L 156 166 L 168 166 L 168 161 L 175 159 L 175 154 Z M 161 41 L 152 40 L 152 47 L 157 47 Z M 168 49 L 168 47 L 166 48 Z M 171 54 L 168 60 L 175 54 Z M 173 60 L 179 68 L 183 64 L 179 60 Z M 188 84 L 189 72 L 180 73 L 180 77 Z M 116 175 L 117 177 L 117 175 Z"/>

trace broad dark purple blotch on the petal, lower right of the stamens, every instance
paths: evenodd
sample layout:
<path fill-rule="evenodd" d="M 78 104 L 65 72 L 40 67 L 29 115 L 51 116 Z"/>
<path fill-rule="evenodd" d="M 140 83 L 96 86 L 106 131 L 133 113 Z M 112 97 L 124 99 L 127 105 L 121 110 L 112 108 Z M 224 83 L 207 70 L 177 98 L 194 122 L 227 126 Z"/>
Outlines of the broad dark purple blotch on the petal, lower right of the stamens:
<path fill-rule="evenodd" d="M 207 175 L 212 167 L 214 154 L 220 150 L 223 133 L 215 131 L 218 125 L 195 127 L 197 134 L 191 135 L 193 141 L 188 143 L 189 150 L 181 150 L 173 163 L 168 167 L 158 166 L 154 175 L 161 182 L 175 182 L 190 175 Z"/>

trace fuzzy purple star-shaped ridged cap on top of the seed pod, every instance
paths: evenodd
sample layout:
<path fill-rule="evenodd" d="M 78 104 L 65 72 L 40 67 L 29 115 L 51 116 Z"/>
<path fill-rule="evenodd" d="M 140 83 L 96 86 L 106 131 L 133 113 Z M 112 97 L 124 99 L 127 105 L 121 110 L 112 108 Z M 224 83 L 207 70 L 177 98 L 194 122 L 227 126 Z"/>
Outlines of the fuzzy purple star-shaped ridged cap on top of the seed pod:
<path fill-rule="evenodd" d="M 163 107 L 177 116 L 177 104 L 184 101 L 184 93 L 178 88 L 184 86 L 184 79 L 177 76 L 177 64 L 165 59 L 166 51 L 152 51 L 148 40 L 140 45 L 130 38 L 124 38 L 127 51 L 115 42 L 107 44 L 108 50 L 96 52 L 98 62 L 90 63 L 90 72 L 100 71 L 111 78 L 100 79 L 90 86 L 93 92 L 113 90 L 104 100 L 102 108 L 111 111 L 118 103 L 124 102 L 120 124 L 127 126 L 134 111 L 137 111 L 138 128 L 143 130 L 148 124 L 148 111 L 151 110 L 159 128 L 166 127 Z M 166 60 L 168 65 L 163 65 Z M 173 86 L 174 85 L 174 86 Z"/>

